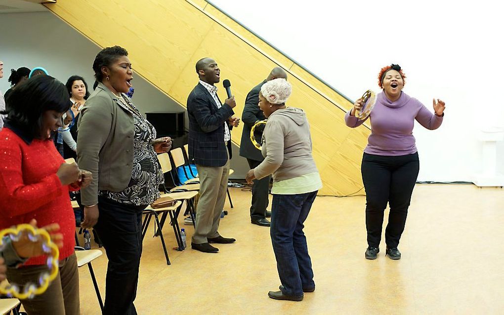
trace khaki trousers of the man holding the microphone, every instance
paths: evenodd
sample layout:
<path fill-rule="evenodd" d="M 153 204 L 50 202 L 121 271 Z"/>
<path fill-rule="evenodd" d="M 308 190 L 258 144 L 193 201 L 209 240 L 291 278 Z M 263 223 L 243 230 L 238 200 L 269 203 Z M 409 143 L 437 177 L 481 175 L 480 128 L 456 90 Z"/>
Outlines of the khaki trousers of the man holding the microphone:
<path fill-rule="evenodd" d="M 207 243 L 207 237 L 219 236 L 219 222 L 226 201 L 229 158 L 224 166 L 196 164 L 200 177 L 200 198 L 196 206 L 196 226 L 192 242 Z"/>

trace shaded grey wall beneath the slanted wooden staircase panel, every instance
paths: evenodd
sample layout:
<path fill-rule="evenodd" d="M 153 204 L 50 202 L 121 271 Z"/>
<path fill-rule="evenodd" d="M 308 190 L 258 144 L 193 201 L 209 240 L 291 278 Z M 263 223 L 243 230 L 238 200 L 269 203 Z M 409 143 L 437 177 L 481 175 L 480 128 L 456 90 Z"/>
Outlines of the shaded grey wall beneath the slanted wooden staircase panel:
<path fill-rule="evenodd" d="M 92 91 L 92 66 L 100 48 L 52 13 L 0 14 L 0 30 L 0 60 L 4 61 L 0 90 L 4 93 L 10 88 L 10 69 L 19 67 L 43 67 L 63 83 L 72 75 L 80 75 Z M 185 110 L 139 75 L 134 74 L 133 85 L 133 102 L 144 113 Z M 233 147 L 232 178 L 245 178 L 248 164 Z"/>

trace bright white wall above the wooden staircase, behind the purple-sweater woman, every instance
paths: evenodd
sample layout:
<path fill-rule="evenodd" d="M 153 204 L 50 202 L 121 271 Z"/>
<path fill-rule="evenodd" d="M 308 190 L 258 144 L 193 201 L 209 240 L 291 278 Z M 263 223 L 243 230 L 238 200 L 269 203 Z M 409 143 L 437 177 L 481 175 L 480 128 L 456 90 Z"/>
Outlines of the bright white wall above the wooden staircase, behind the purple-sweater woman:
<path fill-rule="evenodd" d="M 504 127 L 498 2 L 211 3 L 353 100 L 367 89 L 379 91 L 383 66 L 401 65 L 405 93 L 429 109 L 433 97 L 447 104 L 440 129 L 414 129 L 418 179 L 472 181 L 484 167 L 477 133 L 485 125 Z M 502 153 L 500 144 L 498 168 L 504 171 Z"/>

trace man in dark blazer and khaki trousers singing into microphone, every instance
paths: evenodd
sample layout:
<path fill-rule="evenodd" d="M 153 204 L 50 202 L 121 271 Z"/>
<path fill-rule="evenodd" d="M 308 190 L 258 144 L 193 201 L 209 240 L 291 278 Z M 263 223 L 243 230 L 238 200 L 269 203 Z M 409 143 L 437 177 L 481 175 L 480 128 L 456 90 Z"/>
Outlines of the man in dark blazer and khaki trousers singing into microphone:
<path fill-rule="evenodd" d="M 187 98 L 189 116 L 189 158 L 194 159 L 200 177 L 200 199 L 196 210 L 196 226 L 191 247 L 204 253 L 217 253 L 210 243 L 227 244 L 234 238 L 222 237 L 217 231 L 226 200 L 231 133 L 239 118 L 233 117 L 234 96 L 222 104 L 215 83 L 220 81 L 220 69 L 211 58 L 196 63 L 200 78 Z"/>

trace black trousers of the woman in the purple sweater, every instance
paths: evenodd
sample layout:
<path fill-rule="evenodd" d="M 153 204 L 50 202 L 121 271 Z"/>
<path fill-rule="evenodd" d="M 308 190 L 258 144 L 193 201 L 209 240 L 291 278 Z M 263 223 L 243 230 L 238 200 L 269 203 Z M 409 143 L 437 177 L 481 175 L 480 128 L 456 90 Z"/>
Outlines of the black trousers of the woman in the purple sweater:
<path fill-rule="evenodd" d="M 390 205 L 385 230 L 387 247 L 397 247 L 406 224 L 411 194 L 418 177 L 418 153 L 383 156 L 364 153 L 361 171 L 366 190 L 367 244 L 378 247 L 382 239 L 385 208 Z"/>

